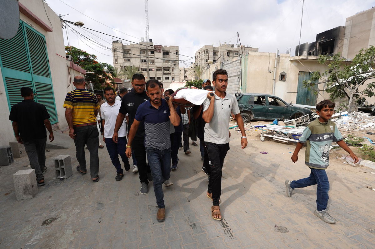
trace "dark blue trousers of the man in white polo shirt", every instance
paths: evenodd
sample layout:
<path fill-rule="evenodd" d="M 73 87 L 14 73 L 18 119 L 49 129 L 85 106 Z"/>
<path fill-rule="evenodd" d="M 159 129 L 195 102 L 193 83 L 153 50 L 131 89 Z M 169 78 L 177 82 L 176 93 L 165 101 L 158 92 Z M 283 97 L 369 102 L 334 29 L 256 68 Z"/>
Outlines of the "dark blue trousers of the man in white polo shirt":
<path fill-rule="evenodd" d="M 110 154 L 111 161 L 113 166 L 116 168 L 117 173 L 124 173 L 124 170 L 121 167 L 120 160 L 118 159 L 118 155 L 120 155 L 121 160 L 123 163 L 129 162 L 125 151 L 126 151 L 126 136 L 122 136 L 117 138 L 117 144 L 113 142 L 112 138 L 104 138 L 105 145 L 107 147 L 108 154 Z"/>

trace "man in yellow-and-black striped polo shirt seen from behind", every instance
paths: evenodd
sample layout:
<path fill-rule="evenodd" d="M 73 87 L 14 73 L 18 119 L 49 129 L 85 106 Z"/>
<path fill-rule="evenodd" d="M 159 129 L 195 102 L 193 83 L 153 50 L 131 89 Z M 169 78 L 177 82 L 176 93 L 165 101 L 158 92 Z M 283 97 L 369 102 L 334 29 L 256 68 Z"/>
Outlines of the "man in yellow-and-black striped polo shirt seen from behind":
<path fill-rule="evenodd" d="M 98 99 L 86 90 L 84 77 L 75 76 L 73 84 L 75 90 L 68 92 L 63 107 L 66 122 L 69 126 L 69 136 L 74 139 L 76 157 L 78 163 L 77 171 L 81 175 L 87 173 L 85 145 L 90 152 L 90 175 L 93 182 L 99 181 L 99 132 L 96 127 L 96 116 L 98 115 Z"/>

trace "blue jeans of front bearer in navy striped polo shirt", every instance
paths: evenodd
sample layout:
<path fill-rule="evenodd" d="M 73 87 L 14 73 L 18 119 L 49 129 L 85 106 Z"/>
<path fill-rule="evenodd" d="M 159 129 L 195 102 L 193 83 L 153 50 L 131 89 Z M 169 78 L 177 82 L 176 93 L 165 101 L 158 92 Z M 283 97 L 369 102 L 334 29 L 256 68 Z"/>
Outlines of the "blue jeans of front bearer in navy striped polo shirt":
<path fill-rule="evenodd" d="M 162 184 L 171 176 L 171 149 L 158 150 L 146 147 L 147 161 L 150 164 L 152 176 L 154 178 L 154 192 L 157 207 L 163 208 L 164 194 Z"/>

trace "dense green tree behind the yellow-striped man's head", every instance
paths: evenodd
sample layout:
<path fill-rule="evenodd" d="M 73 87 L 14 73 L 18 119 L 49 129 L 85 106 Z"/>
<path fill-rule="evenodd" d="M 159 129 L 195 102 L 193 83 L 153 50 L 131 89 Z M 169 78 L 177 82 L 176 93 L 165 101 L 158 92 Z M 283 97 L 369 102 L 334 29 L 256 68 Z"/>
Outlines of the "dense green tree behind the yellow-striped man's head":
<path fill-rule="evenodd" d="M 73 46 L 65 46 L 67 55 L 71 55 L 73 62 L 79 65 L 87 72 L 85 79 L 87 82 L 93 82 L 94 89 L 104 89 L 106 86 L 112 86 L 114 83 L 115 70 L 112 65 L 98 62 L 96 55 L 91 55 L 86 51 Z"/>

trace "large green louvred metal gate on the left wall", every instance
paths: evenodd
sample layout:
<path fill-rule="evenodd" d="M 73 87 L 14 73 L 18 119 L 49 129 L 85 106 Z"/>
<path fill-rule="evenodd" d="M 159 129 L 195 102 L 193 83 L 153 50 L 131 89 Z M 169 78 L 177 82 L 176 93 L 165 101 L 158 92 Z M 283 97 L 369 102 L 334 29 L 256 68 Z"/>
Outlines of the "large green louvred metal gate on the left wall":
<path fill-rule="evenodd" d="M 45 105 L 51 124 L 58 122 L 45 37 L 20 20 L 12 39 L 0 39 L 0 68 L 9 110 L 21 102 L 20 89 L 37 93 L 35 101 Z"/>

